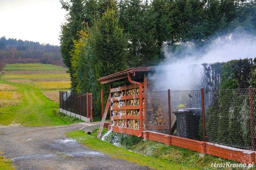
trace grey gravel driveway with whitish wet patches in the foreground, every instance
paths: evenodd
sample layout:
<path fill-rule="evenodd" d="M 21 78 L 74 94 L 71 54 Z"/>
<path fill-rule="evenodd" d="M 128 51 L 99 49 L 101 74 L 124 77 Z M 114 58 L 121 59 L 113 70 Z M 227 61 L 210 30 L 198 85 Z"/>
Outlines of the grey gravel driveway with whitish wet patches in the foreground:
<path fill-rule="evenodd" d="M 65 132 L 84 127 L 0 127 L 0 151 L 17 170 L 149 170 L 122 159 L 86 148 L 68 139 Z"/>

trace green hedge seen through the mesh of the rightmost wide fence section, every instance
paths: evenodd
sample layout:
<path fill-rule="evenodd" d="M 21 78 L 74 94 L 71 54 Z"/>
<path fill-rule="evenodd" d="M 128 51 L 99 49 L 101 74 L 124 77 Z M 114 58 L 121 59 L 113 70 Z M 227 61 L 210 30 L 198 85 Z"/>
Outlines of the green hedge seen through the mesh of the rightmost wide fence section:
<path fill-rule="evenodd" d="M 250 148 L 249 95 L 241 90 L 220 90 L 213 95 L 206 112 L 207 141 Z"/>

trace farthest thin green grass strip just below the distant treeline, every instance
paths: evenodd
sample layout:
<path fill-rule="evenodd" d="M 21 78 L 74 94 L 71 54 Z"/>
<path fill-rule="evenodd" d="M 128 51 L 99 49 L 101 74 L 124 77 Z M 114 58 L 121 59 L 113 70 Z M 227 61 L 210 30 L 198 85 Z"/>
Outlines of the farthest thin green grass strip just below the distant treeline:
<path fill-rule="evenodd" d="M 14 70 L 66 70 L 67 68 L 61 66 L 55 66 L 51 64 L 9 64 L 4 67 L 5 71 Z"/>

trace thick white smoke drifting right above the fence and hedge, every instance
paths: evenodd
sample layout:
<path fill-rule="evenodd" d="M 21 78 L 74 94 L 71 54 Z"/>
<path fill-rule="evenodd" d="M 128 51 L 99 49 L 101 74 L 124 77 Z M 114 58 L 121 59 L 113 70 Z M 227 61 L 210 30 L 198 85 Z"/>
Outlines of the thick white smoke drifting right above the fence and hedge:
<path fill-rule="evenodd" d="M 170 51 L 168 46 L 163 47 L 166 59 L 160 65 L 164 69 L 148 76 L 148 81 L 157 82 L 151 90 L 199 90 L 201 64 L 255 58 L 256 36 L 231 33 L 217 37 L 210 45 L 200 50 L 195 48 L 193 43 L 183 44 L 182 47 L 182 52 Z"/>

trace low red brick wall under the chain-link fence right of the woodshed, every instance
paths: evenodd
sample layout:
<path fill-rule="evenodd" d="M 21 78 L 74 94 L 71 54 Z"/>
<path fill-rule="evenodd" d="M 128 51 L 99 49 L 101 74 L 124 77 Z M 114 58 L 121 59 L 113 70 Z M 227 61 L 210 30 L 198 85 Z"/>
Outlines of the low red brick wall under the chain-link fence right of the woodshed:
<path fill-rule="evenodd" d="M 207 153 L 209 155 L 214 155 L 246 164 L 255 164 L 255 151 L 252 150 L 237 149 L 224 145 L 218 145 L 215 143 L 192 140 L 151 131 L 144 131 L 143 137 L 144 139 L 154 140 L 157 142 L 165 143 L 166 145 L 175 145 L 199 153 Z"/>

